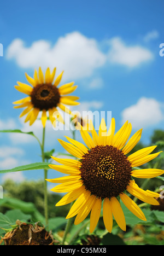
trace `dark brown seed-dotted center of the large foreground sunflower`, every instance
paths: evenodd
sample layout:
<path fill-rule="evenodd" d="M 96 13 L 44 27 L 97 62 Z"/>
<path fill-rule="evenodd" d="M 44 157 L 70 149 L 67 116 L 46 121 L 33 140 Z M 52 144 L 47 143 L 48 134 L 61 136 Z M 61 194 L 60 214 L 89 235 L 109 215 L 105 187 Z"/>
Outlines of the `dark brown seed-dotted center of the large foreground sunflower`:
<path fill-rule="evenodd" d="M 127 156 L 113 146 L 96 146 L 83 156 L 81 179 L 97 197 L 117 197 L 131 180 L 132 167 Z"/>

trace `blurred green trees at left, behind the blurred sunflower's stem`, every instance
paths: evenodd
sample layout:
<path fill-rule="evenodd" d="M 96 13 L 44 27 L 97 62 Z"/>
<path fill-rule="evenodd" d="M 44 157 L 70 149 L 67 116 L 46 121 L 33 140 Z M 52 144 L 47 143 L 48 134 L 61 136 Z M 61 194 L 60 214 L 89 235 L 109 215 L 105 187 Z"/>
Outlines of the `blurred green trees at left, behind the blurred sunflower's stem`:
<path fill-rule="evenodd" d="M 3 184 L 4 199 L 0 200 L 0 211 L 5 212 L 8 202 L 14 202 L 17 199 L 17 206 L 19 208 L 18 200 L 21 200 L 21 205 L 25 203 L 26 208 L 37 209 L 37 211 L 44 216 L 44 182 L 43 181 L 24 181 L 15 183 L 10 179 Z M 12 199 L 12 200 L 11 200 Z M 55 204 L 61 199 L 61 196 L 55 193 L 48 193 L 48 207 L 49 218 L 56 216 L 66 216 L 69 206 L 55 207 Z M 15 202 L 15 203 L 16 203 Z M 30 205 L 32 204 L 32 205 Z M 12 207 L 13 208 L 13 207 Z M 21 209 L 22 210 L 22 209 Z M 26 210 L 24 210 L 26 212 Z"/>

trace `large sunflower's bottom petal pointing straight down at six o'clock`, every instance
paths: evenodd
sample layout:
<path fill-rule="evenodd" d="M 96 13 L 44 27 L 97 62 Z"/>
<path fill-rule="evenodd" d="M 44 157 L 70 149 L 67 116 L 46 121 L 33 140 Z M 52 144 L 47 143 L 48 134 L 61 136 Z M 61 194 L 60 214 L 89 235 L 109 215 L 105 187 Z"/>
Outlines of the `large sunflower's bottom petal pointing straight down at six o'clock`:
<path fill-rule="evenodd" d="M 111 202 L 108 198 L 105 198 L 103 202 L 103 221 L 106 229 L 109 233 L 111 233 L 113 226 L 113 216 Z"/>

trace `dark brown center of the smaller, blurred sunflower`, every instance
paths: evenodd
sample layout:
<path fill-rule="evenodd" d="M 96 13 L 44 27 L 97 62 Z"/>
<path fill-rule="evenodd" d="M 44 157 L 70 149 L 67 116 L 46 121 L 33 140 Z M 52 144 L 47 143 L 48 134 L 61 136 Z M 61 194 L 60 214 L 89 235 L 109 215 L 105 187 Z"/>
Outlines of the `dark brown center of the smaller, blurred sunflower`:
<path fill-rule="evenodd" d="M 31 102 L 34 108 L 48 110 L 57 107 L 60 102 L 60 93 L 52 84 L 38 84 L 31 92 Z"/>

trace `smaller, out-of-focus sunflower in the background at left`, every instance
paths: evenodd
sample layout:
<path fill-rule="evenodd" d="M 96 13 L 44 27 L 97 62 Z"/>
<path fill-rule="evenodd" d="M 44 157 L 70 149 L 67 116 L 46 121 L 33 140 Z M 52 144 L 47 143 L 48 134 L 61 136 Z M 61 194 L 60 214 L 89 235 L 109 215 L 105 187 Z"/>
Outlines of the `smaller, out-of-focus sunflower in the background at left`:
<path fill-rule="evenodd" d="M 77 102 L 79 97 L 67 96 L 77 89 L 77 85 L 74 85 L 74 82 L 71 82 L 57 88 L 62 79 L 63 72 L 58 75 L 55 82 L 53 82 L 55 73 L 56 68 L 54 68 L 52 73 L 50 72 L 50 68 L 47 68 L 44 78 L 42 69 L 39 68 L 38 72 L 35 69 L 33 78 L 25 73 L 26 79 L 30 85 L 21 82 L 17 82 L 17 85 L 15 85 L 16 90 L 28 95 L 19 101 L 13 102 L 13 104 L 18 105 L 14 106 L 14 108 L 25 108 L 20 115 L 20 117 L 23 117 L 27 114 L 25 123 L 30 121 L 30 125 L 32 125 L 37 119 L 39 112 L 42 112 L 41 120 L 43 127 L 45 127 L 46 120 L 48 119 L 47 112 L 49 112 L 49 119 L 53 125 L 55 125 L 56 119 L 64 123 L 62 115 L 57 107 L 70 114 L 71 111 L 65 104 L 69 106 L 79 104 Z"/>

